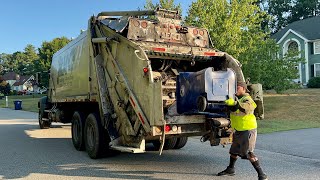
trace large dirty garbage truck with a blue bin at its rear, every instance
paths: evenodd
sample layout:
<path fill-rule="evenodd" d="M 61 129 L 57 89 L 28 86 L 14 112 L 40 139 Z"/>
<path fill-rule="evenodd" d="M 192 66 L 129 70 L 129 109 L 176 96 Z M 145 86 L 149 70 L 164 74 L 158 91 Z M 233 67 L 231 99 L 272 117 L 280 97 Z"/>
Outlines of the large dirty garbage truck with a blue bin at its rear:
<path fill-rule="evenodd" d="M 146 143 L 161 154 L 191 136 L 225 145 L 232 129 L 224 101 L 238 81 L 240 62 L 177 11 L 101 12 L 53 55 L 39 126 L 71 123 L 74 147 L 93 159 L 142 153 Z"/>

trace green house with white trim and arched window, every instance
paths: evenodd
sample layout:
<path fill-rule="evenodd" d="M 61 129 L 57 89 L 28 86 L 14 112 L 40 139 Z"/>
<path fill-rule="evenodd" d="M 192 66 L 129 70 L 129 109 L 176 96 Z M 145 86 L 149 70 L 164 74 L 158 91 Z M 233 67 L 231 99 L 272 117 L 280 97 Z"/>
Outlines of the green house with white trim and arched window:
<path fill-rule="evenodd" d="M 320 16 L 295 21 L 272 36 L 280 46 L 280 55 L 298 50 L 305 62 L 297 66 L 299 78 L 306 85 L 311 77 L 320 77 Z"/>

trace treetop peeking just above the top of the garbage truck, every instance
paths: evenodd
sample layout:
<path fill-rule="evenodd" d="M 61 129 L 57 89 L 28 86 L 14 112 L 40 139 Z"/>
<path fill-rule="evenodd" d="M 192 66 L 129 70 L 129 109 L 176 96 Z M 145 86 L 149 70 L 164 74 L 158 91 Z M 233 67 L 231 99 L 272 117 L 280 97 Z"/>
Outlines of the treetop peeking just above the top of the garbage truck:
<path fill-rule="evenodd" d="M 144 5 L 144 8 L 147 10 L 154 10 L 157 7 L 160 7 L 162 9 L 168 9 L 168 10 L 175 10 L 182 13 L 181 4 L 175 4 L 174 0 L 159 0 L 159 3 L 152 3 L 152 0 L 146 0 L 146 4 Z"/>

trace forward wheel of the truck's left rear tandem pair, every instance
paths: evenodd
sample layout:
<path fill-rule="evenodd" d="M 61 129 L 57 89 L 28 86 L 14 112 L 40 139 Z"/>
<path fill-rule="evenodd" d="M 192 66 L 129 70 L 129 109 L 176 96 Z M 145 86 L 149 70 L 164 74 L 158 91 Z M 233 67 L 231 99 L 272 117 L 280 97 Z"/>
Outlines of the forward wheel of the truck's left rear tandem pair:
<path fill-rule="evenodd" d="M 72 134 L 72 143 L 73 146 L 78 151 L 83 151 L 84 146 L 84 138 L 83 138 L 83 126 L 84 126 L 84 118 L 81 112 L 74 112 L 71 119 L 71 134 Z"/>

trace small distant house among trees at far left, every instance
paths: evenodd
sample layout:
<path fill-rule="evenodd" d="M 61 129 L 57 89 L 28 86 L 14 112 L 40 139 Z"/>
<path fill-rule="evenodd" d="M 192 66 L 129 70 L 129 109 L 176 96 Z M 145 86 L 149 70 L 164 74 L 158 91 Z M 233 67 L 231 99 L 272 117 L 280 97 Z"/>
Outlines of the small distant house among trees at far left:
<path fill-rule="evenodd" d="M 33 91 L 32 87 L 32 81 L 34 80 L 33 75 L 28 76 L 20 76 L 14 72 L 9 72 L 7 74 L 4 74 L 2 76 L 3 80 L 7 81 L 10 86 L 11 90 L 16 91 L 23 91 L 23 90 L 29 90 Z"/>

